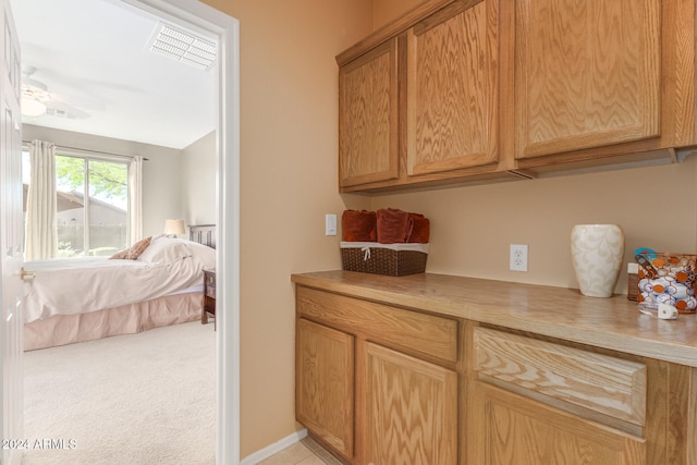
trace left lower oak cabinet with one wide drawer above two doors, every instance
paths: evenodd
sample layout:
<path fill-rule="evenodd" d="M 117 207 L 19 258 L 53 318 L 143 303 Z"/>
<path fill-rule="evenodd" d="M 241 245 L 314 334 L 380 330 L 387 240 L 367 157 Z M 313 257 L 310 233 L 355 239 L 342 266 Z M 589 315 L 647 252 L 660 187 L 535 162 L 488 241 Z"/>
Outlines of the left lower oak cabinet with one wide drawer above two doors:
<path fill-rule="evenodd" d="M 296 297 L 297 421 L 351 464 L 456 465 L 458 322 L 306 287 Z"/>

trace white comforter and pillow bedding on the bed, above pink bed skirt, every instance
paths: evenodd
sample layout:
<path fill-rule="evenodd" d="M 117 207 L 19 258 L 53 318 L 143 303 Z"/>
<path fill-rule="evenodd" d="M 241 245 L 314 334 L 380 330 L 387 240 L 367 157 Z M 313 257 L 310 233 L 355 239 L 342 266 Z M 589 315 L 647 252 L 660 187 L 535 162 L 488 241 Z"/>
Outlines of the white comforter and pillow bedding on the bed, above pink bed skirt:
<path fill-rule="evenodd" d="M 24 283 L 25 322 L 149 301 L 197 286 L 204 269 L 215 269 L 216 250 L 159 236 L 136 260 L 103 257 L 36 260 Z"/>

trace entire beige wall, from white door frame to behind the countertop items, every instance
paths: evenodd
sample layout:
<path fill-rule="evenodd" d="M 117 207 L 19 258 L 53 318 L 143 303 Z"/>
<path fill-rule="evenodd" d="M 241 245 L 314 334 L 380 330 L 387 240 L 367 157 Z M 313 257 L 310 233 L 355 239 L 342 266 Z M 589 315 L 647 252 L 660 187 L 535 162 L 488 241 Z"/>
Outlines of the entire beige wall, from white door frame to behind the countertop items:
<path fill-rule="evenodd" d="M 374 21 L 371 0 L 205 2 L 240 20 L 241 32 L 243 457 L 298 428 L 290 274 L 341 266 L 339 237 L 323 235 L 325 213 L 420 211 L 432 221 L 429 271 L 560 286 L 575 285 L 568 236 L 576 223 L 619 223 L 628 249 L 695 249 L 697 157 L 682 166 L 508 184 L 338 194 L 334 56 L 404 3 L 376 0 Z M 663 185 L 680 200 L 659 196 Z M 508 271 L 510 243 L 529 245 L 529 272 Z"/>

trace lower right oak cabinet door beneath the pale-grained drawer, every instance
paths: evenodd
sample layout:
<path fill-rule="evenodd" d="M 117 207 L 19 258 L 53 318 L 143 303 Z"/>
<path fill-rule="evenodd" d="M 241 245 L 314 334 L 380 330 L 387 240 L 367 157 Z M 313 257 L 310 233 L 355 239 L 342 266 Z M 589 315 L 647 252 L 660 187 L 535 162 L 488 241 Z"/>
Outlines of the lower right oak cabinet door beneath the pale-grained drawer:
<path fill-rule="evenodd" d="M 484 465 L 646 464 L 643 439 L 479 383 L 467 428 L 478 436 L 472 463 Z"/>

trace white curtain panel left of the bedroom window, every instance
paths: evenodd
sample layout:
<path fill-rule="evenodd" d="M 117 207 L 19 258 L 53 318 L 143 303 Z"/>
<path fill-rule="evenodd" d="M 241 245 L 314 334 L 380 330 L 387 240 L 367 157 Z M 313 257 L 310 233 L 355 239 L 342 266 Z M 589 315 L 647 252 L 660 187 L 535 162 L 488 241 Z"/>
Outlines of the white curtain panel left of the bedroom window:
<path fill-rule="evenodd" d="M 56 145 L 32 140 L 29 189 L 26 201 L 25 260 L 54 258 L 58 254 L 56 222 Z"/>

